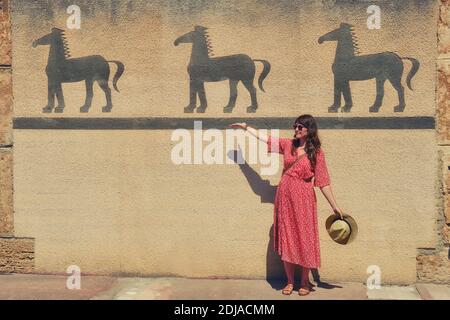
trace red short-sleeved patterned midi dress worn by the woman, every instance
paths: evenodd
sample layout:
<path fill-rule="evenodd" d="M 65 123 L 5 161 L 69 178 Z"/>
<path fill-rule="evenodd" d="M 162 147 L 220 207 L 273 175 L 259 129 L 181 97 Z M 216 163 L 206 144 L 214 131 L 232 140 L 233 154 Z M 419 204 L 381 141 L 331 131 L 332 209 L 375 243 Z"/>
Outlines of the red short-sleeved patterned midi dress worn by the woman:
<path fill-rule="evenodd" d="M 275 195 L 274 249 L 283 261 L 306 268 L 319 268 L 319 228 L 314 187 L 330 184 L 325 154 L 320 149 L 314 169 L 307 155 L 295 163 L 297 155 L 291 154 L 291 139 L 269 137 L 268 148 L 269 152 L 278 152 L 284 158 L 283 175 Z"/>

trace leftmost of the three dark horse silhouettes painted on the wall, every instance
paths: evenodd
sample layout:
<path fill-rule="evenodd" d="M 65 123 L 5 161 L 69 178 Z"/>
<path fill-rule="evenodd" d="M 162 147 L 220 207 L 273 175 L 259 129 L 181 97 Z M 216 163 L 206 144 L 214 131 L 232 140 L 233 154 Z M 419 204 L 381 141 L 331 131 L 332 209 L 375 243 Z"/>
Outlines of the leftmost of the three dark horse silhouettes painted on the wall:
<path fill-rule="evenodd" d="M 105 92 L 106 106 L 102 108 L 103 112 L 110 112 L 113 104 L 111 98 L 111 89 L 109 87 L 109 64 L 117 65 L 117 72 L 114 75 L 113 86 L 117 88 L 117 81 L 123 74 L 125 67 L 120 61 L 107 61 L 99 55 L 87 56 L 81 58 L 70 58 L 70 51 L 65 38 L 64 30 L 52 28 L 52 32 L 40 39 L 33 41 L 33 47 L 39 45 L 49 45 L 50 53 L 48 64 L 45 69 L 48 78 L 48 104 L 42 109 L 43 112 L 63 112 L 65 108 L 62 83 L 85 81 L 86 83 L 86 101 L 80 108 L 80 112 L 88 112 L 92 104 L 94 81 L 100 85 Z M 55 96 L 58 100 L 58 106 L 55 108 Z"/>

